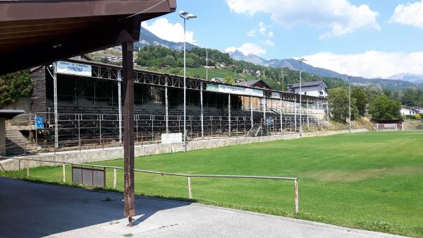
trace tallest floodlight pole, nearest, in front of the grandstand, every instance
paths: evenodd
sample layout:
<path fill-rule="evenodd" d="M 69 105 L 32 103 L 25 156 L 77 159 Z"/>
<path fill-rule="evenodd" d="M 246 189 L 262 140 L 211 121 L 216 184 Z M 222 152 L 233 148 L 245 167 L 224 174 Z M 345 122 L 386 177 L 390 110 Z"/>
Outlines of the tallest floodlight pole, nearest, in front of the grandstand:
<path fill-rule="evenodd" d="M 186 130 L 186 116 L 187 116 L 187 84 L 186 84 L 186 74 L 187 74 L 187 66 L 186 66 L 186 44 L 187 40 L 185 37 L 185 25 L 186 21 L 192 18 L 197 18 L 194 14 L 188 13 L 186 11 L 180 11 L 179 16 L 183 18 L 183 143 L 184 143 L 184 151 L 187 151 L 187 130 Z"/>

